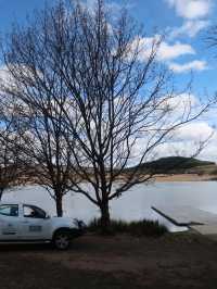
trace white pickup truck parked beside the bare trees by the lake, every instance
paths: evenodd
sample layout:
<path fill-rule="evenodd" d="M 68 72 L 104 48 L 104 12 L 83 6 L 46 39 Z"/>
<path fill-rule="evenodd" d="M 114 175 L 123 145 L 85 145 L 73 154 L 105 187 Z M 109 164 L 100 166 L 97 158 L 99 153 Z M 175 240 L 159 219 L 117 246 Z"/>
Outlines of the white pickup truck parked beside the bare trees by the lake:
<path fill-rule="evenodd" d="M 85 224 L 69 217 L 51 217 L 42 209 L 24 203 L 0 203 L 0 241 L 50 241 L 66 250 L 71 240 L 81 236 Z"/>

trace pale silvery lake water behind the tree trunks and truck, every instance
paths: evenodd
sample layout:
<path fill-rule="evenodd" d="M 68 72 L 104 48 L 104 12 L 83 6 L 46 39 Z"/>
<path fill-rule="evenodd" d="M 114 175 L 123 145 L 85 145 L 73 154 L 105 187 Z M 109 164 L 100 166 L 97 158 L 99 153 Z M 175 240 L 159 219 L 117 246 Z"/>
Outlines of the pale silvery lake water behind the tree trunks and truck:
<path fill-rule="evenodd" d="M 28 186 L 4 193 L 2 201 L 36 204 L 48 211 L 50 215 L 55 215 L 54 201 L 43 188 L 38 186 Z M 180 230 L 151 210 L 152 205 L 191 205 L 217 214 L 217 181 L 139 185 L 111 202 L 111 216 L 125 221 L 158 219 L 170 230 Z M 64 214 L 89 222 L 98 217 L 100 212 L 85 197 L 69 192 L 64 197 Z"/>

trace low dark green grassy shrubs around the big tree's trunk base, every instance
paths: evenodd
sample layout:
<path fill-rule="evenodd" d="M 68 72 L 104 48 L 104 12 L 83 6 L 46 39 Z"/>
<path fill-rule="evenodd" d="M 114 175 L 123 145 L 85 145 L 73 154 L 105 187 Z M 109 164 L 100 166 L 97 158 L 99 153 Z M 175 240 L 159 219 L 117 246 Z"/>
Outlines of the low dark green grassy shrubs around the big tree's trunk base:
<path fill-rule="evenodd" d="M 88 230 L 100 233 L 100 219 L 93 218 L 88 224 Z M 159 237 L 166 233 L 168 229 L 166 226 L 161 225 L 158 221 L 135 221 L 135 222 L 125 222 L 125 221 L 111 221 L 110 226 L 111 234 L 130 234 L 132 236 L 148 236 L 148 237 Z"/>

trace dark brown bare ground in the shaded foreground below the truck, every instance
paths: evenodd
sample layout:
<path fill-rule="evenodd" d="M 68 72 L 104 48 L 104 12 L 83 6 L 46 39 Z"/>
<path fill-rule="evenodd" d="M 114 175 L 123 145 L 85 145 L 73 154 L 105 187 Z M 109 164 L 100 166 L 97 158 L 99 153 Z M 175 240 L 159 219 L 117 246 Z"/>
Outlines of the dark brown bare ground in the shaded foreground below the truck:
<path fill-rule="evenodd" d="M 217 243 L 188 233 L 129 235 L 50 246 L 0 246 L 1 289 L 216 289 Z"/>

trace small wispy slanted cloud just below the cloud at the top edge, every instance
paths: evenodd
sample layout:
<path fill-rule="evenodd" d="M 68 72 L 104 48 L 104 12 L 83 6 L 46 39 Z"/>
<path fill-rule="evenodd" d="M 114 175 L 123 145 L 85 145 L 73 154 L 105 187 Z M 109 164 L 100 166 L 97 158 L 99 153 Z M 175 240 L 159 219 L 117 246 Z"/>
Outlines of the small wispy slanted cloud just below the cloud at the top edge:
<path fill-rule="evenodd" d="M 181 35 L 195 37 L 202 29 L 206 28 L 209 24 L 210 22 L 207 20 L 187 21 L 183 23 L 182 26 L 173 28 L 169 38 L 176 38 Z"/>

